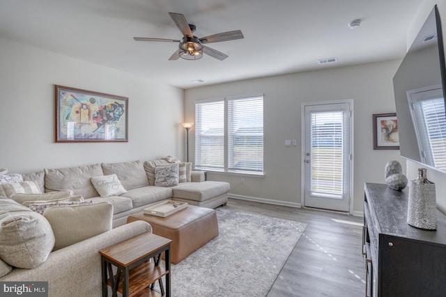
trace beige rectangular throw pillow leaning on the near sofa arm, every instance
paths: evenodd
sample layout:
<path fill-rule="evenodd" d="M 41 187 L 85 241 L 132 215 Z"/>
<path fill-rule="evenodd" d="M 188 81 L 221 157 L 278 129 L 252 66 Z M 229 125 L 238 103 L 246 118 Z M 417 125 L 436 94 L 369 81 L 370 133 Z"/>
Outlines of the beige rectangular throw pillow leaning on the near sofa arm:
<path fill-rule="evenodd" d="M 45 210 L 43 216 L 47 218 L 54 232 L 54 250 L 59 250 L 112 230 L 113 204 L 100 202 L 50 207 Z"/>

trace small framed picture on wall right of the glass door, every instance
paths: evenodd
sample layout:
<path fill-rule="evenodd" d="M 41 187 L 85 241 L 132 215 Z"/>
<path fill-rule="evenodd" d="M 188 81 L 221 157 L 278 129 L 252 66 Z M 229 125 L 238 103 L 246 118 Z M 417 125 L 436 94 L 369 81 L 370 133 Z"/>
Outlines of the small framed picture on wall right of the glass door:
<path fill-rule="evenodd" d="M 399 150 L 397 113 L 373 115 L 374 150 Z"/>

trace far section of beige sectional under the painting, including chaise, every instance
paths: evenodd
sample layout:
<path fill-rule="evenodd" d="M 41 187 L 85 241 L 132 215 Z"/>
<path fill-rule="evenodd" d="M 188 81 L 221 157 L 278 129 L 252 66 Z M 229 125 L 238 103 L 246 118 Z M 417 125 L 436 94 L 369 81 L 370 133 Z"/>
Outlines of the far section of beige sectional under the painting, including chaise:
<path fill-rule="evenodd" d="M 43 192 L 73 191 L 84 200 L 113 204 L 113 227 L 126 223 L 127 217 L 165 200 L 177 200 L 201 207 L 215 208 L 226 204 L 229 183 L 204 181 L 203 172 L 191 171 L 188 180 L 176 186 L 155 186 L 153 170 L 171 163 L 163 159 L 97 163 L 70 168 L 44 169 L 24 174 L 24 180 L 36 182 Z M 127 193 L 100 197 L 91 183 L 92 177 L 116 174 Z M 1 193 L 0 193 L 1 195 Z"/>

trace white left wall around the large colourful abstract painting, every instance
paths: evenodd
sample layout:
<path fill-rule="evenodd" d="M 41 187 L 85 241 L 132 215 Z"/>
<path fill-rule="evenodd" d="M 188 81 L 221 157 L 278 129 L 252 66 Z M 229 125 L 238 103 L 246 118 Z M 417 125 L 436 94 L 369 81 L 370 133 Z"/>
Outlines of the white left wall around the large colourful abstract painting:
<path fill-rule="evenodd" d="M 54 85 L 129 97 L 128 143 L 55 143 Z M 9 172 L 183 157 L 184 91 L 0 39 L 0 167 Z"/>

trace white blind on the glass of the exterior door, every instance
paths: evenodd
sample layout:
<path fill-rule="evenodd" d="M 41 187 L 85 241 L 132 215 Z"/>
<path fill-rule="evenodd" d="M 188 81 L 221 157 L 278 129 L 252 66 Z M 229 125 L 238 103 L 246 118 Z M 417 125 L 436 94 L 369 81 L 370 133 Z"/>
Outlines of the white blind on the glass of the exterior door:
<path fill-rule="evenodd" d="M 343 112 L 311 114 L 312 195 L 342 198 L 344 170 Z"/>

